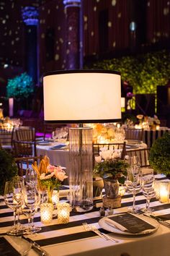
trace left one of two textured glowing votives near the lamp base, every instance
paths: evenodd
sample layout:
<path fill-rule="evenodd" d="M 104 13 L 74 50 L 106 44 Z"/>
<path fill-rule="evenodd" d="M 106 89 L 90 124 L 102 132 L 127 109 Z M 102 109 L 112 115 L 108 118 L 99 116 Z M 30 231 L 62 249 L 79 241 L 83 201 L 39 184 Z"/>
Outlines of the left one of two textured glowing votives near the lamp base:
<path fill-rule="evenodd" d="M 53 219 L 53 204 L 44 202 L 40 205 L 40 217 L 43 224 L 49 224 Z"/>

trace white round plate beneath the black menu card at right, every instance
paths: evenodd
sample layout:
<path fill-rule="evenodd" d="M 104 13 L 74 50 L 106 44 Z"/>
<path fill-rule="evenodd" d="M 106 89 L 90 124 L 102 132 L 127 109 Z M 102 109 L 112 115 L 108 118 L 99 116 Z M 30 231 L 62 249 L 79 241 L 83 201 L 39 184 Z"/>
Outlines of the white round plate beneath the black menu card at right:
<path fill-rule="evenodd" d="M 117 216 L 117 214 L 112 215 L 112 216 Z M 109 216 L 109 217 L 112 217 L 112 216 Z M 105 219 L 108 218 L 108 217 L 101 218 L 99 220 L 99 226 L 101 226 L 102 229 L 105 229 L 105 230 L 107 230 L 109 232 L 113 232 L 115 234 L 122 234 L 124 236 L 126 236 L 126 235 L 128 235 L 128 236 L 140 236 L 140 235 L 143 235 L 143 234 L 151 234 L 151 233 L 155 232 L 158 229 L 158 227 L 159 227 L 158 221 L 154 220 L 153 218 L 150 218 L 150 217 L 147 217 L 147 216 L 142 216 L 142 215 L 135 216 L 135 217 L 141 218 L 143 221 L 148 222 L 149 224 L 154 226 L 155 229 L 148 229 L 148 230 L 141 231 L 139 233 L 133 234 L 133 233 L 130 233 L 128 231 L 122 231 L 120 229 L 117 229 L 117 227 L 113 227 L 113 226 L 110 226 L 109 224 L 107 224 L 105 222 Z"/>

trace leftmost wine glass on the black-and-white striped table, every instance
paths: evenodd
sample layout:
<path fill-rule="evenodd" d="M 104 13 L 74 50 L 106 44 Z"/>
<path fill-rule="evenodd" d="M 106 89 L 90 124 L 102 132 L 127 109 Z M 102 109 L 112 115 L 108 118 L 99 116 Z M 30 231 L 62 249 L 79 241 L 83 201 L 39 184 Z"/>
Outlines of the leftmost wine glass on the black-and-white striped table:
<path fill-rule="evenodd" d="M 18 236 L 22 234 L 22 229 L 21 226 L 17 224 L 16 216 L 19 216 L 19 208 L 22 207 L 24 202 L 24 183 L 21 179 L 13 179 L 10 182 L 6 182 L 4 201 L 9 208 L 14 210 L 14 226 L 6 234 Z"/>

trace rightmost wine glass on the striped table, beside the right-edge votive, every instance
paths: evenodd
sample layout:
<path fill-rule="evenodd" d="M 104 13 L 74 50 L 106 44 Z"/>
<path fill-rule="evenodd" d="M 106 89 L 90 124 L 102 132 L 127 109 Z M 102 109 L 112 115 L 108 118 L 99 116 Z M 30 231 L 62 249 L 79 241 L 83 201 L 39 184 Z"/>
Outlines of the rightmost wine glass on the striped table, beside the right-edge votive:
<path fill-rule="evenodd" d="M 153 188 L 153 183 L 154 183 L 153 172 L 142 173 L 141 184 L 142 184 L 143 195 L 146 197 L 146 208 L 143 208 L 141 210 L 146 213 L 151 213 L 153 211 L 153 209 L 150 208 L 150 200 L 156 195 L 156 192 Z"/>

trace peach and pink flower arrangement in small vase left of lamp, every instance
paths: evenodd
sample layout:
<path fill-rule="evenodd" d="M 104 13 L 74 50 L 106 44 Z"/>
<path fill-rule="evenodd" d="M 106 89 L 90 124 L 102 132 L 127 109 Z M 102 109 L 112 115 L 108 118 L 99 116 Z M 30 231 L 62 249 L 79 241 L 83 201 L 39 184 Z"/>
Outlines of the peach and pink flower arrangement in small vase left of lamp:
<path fill-rule="evenodd" d="M 66 172 L 63 170 L 65 167 L 50 165 L 49 158 L 45 157 L 40 161 L 37 166 L 35 161 L 32 168 L 37 172 L 37 182 L 40 190 L 48 192 L 48 202 L 52 202 L 53 189 L 59 189 L 61 182 L 68 178 Z"/>

